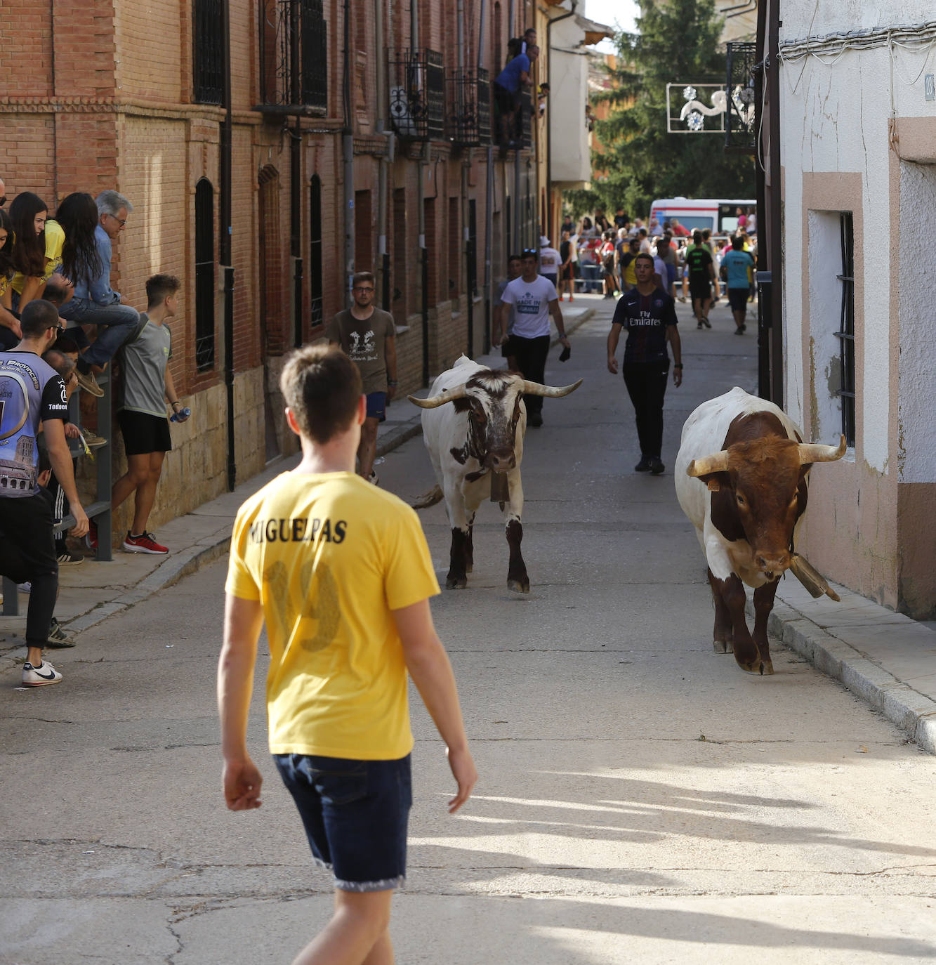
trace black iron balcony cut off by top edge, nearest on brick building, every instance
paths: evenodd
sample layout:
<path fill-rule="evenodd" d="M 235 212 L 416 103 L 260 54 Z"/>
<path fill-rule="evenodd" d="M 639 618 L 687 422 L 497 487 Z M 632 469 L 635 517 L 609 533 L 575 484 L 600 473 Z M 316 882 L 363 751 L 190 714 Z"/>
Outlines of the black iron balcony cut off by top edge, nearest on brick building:
<path fill-rule="evenodd" d="M 260 0 L 260 95 L 269 114 L 328 112 L 322 0 Z"/>

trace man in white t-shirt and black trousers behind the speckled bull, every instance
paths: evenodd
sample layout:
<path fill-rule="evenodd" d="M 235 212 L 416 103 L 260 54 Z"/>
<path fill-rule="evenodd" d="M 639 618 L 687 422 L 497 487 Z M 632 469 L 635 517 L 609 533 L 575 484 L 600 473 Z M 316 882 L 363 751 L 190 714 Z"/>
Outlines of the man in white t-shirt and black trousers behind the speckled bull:
<path fill-rule="evenodd" d="M 542 383 L 546 378 L 546 356 L 549 354 L 549 317 L 556 322 L 559 341 L 571 347 L 565 336 L 563 310 L 559 307 L 556 286 L 537 273 L 537 249 L 527 248 L 520 256 L 521 275 L 509 282 L 501 301 L 512 305 L 516 314 L 509 336 L 517 369 L 529 382 Z M 542 425 L 542 396 L 523 397 L 527 406 L 527 425 Z"/>

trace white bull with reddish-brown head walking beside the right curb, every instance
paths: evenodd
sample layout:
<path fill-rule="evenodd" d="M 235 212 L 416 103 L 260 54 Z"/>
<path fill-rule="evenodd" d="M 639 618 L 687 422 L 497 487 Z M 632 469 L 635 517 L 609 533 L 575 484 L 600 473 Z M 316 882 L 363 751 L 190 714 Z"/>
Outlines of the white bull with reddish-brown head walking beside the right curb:
<path fill-rule="evenodd" d="M 810 568 L 795 556 L 794 546 L 812 464 L 840 459 L 844 452 L 844 436 L 838 446 L 804 443 L 783 409 L 738 388 L 702 402 L 682 427 L 676 496 L 708 562 L 714 647 L 722 653 L 733 649 L 738 666 L 752 674 L 774 672 L 767 618 L 778 580 L 787 568 L 800 579 Z M 753 637 L 743 584 L 754 588 Z M 827 586 L 825 592 L 834 596 Z"/>

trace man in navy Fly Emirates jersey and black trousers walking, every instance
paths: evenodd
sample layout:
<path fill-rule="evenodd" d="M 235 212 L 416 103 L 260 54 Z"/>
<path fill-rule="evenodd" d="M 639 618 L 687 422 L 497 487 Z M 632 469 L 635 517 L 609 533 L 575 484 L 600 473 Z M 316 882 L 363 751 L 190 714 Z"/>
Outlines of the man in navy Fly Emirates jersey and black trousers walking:
<path fill-rule="evenodd" d="M 634 259 L 637 285 L 625 291 L 615 308 L 608 333 L 608 372 L 618 374 L 618 340 L 621 329 L 627 330 L 624 345 L 624 385 L 634 403 L 641 460 L 634 467 L 639 473 L 660 476 L 664 469 L 660 459 L 663 445 L 663 397 L 670 374 L 673 347 L 673 384 L 682 384 L 682 347 L 676 331 L 673 297 L 661 289 L 654 278 L 653 259 L 647 254 Z"/>

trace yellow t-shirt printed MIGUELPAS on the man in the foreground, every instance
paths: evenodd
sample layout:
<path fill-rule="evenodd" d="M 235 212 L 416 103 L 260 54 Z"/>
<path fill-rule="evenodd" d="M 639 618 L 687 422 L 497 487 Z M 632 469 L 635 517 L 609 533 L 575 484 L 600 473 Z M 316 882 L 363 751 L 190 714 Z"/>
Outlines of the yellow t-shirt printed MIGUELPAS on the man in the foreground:
<path fill-rule="evenodd" d="M 439 592 L 414 510 L 353 473 L 283 473 L 238 511 L 225 589 L 262 602 L 270 753 L 409 754 L 391 611 Z"/>

